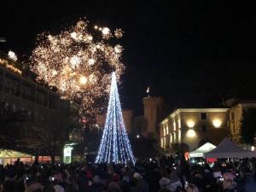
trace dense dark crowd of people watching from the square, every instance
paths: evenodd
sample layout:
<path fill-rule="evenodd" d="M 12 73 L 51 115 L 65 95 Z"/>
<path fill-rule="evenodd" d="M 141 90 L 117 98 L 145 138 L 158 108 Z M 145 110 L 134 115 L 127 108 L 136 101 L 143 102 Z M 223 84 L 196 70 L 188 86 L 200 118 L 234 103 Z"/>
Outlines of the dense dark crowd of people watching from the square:
<path fill-rule="evenodd" d="M 189 164 L 172 157 L 136 165 L 0 166 L 3 192 L 239 192 L 248 163 Z"/>

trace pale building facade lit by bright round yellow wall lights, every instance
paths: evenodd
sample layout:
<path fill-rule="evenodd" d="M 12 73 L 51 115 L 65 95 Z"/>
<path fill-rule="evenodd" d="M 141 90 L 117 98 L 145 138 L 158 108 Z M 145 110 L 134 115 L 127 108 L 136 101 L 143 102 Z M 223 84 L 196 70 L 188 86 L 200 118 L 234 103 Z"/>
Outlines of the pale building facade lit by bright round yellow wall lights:
<path fill-rule="evenodd" d="M 229 133 L 229 108 L 180 108 L 160 122 L 160 146 L 187 144 L 189 150 L 202 141 L 217 145 Z"/>

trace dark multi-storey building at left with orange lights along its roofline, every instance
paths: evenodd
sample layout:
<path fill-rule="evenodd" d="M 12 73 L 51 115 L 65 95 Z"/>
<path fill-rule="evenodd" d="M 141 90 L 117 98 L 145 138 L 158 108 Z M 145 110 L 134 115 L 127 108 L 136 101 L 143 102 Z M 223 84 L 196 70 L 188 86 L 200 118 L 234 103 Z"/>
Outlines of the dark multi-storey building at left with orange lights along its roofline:
<path fill-rule="evenodd" d="M 70 104 L 61 100 L 55 91 L 37 84 L 31 75 L 25 75 L 20 66 L 19 62 L 0 52 L 0 102 L 8 103 L 14 112 L 29 113 L 30 127 L 22 127 L 22 133 L 24 139 L 33 139 L 28 128 L 42 128 L 56 114 L 66 115 Z M 33 145 L 26 147 L 36 148 Z"/>

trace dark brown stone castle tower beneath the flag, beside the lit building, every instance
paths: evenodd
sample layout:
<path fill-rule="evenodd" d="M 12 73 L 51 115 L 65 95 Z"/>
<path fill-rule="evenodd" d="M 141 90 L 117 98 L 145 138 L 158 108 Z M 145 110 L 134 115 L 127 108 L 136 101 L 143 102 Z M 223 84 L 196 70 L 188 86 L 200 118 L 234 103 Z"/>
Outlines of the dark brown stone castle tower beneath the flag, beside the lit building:
<path fill-rule="evenodd" d="M 143 136 L 158 134 L 157 128 L 162 118 L 163 104 L 164 99 L 159 96 L 143 98 L 144 118 L 147 121 L 146 131 L 143 132 Z"/>

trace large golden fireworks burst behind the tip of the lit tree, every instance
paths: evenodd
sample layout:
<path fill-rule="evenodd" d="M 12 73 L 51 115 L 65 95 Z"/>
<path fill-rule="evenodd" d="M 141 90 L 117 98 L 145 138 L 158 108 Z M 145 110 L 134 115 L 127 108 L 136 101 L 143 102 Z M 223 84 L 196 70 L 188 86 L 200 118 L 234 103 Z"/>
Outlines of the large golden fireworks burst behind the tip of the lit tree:
<path fill-rule="evenodd" d="M 124 71 L 123 48 L 111 44 L 112 38 L 122 37 L 122 31 L 112 34 L 106 26 L 94 26 L 93 36 L 89 28 L 87 21 L 79 20 L 60 34 L 44 32 L 31 56 L 38 79 L 55 86 L 62 98 L 79 103 L 85 118 L 101 111 L 98 102 L 108 96 L 111 73 L 119 79 Z"/>

